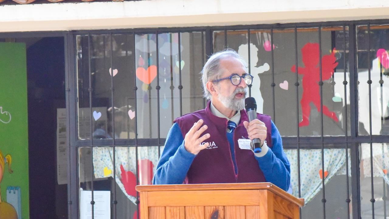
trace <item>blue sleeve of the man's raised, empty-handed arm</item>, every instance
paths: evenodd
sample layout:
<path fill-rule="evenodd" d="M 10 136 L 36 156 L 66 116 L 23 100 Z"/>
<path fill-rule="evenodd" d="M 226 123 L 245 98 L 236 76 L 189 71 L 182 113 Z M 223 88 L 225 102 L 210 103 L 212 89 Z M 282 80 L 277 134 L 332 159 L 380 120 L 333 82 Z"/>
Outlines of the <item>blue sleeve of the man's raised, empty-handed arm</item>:
<path fill-rule="evenodd" d="M 182 184 L 196 155 L 187 152 L 177 123 L 168 133 L 152 184 Z"/>

